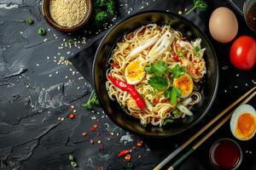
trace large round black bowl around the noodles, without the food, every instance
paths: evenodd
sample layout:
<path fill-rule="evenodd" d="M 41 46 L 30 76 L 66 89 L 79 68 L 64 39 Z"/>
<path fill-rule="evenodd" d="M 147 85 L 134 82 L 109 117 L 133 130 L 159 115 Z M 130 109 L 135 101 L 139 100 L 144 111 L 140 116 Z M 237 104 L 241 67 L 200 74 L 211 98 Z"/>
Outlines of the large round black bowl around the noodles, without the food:
<path fill-rule="evenodd" d="M 142 127 L 139 120 L 129 116 L 121 109 L 117 101 L 109 99 L 107 89 L 105 88 L 106 71 L 109 67 L 108 59 L 112 54 L 112 50 L 127 32 L 134 31 L 138 27 L 156 23 L 159 25 L 170 25 L 173 29 L 183 32 L 183 36 L 190 40 L 195 40 L 197 37 L 202 39 L 202 47 L 207 48 L 204 59 L 207 63 L 207 74 L 202 89 L 201 102 L 195 105 L 192 109 L 194 116 L 186 116 L 172 123 L 170 127 Z M 196 122 L 199 122 L 210 109 L 218 88 L 218 60 L 211 42 L 201 30 L 191 21 L 186 20 L 180 15 L 160 12 L 148 11 L 139 14 L 134 14 L 120 21 L 117 25 L 108 31 L 103 37 L 101 44 L 97 48 L 96 56 L 93 64 L 93 80 L 96 88 L 96 95 L 100 100 L 102 109 L 119 127 L 124 128 L 131 133 L 136 133 L 142 136 L 151 137 L 168 137 L 188 130 L 193 127 Z"/>

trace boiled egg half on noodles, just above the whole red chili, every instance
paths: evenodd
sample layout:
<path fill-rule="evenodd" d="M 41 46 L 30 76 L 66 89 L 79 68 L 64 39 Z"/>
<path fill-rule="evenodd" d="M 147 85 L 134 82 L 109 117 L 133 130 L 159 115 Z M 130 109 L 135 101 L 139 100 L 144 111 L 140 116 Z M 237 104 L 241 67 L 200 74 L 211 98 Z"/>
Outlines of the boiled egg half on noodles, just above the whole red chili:
<path fill-rule="evenodd" d="M 125 78 L 128 84 L 135 85 L 143 80 L 146 75 L 144 67 L 141 65 L 143 59 L 138 58 L 131 61 L 125 68 Z"/>

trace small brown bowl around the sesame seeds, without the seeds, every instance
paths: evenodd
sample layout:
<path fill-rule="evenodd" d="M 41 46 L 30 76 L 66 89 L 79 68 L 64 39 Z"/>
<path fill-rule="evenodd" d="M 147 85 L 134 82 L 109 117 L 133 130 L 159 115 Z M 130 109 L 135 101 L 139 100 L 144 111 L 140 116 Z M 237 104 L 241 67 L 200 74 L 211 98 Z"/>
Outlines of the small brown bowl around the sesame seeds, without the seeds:
<path fill-rule="evenodd" d="M 43 0 L 43 3 L 42 3 L 42 12 L 44 15 L 44 20 L 47 21 L 49 26 L 52 26 L 53 28 L 55 28 L 58 31 L 67 31 L 67 32 L 68 31 L 77 31 L 77 30 L 79 30 L 79 28 L 83 27 L 84 24 L 90 19 L 90 14 L 92 11 L 92 3 L 91 3 L 91 0 L 84 0 L 84 1 L 86 1 L 86 8 L 87 8 L 87 12 L 84 15 L 84 19 L 81 20 L 81 22 L 79 22 L 79 24 L 76 26 L 71 26 L 71 27 L 60 26 L 55 22 L 55 20 L 52 19 L 52 17 L 49 14 L 49 1 L 50 0 Z"/>

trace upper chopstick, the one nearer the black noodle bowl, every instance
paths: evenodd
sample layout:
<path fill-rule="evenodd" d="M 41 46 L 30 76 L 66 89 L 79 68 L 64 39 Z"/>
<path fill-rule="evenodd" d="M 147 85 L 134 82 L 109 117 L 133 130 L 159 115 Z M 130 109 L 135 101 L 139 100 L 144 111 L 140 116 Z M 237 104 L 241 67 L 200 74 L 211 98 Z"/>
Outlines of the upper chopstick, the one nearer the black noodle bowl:
<path fill-rule="evenodd" d="M 195 133 L 194 136 L 192 136 L 190 139 L 188 139 L 181 146 L 177 147 L 176 150 L 172 151 L 172 153 L 169 156 L 167 156 L 165 160 L 161 161 L 160 164 L 158 164 L 156 167 L 154 167 L 154 170 L 160 170 L 160 168 L 164 167 L 166 165 L 166 163 L 171 161 L 174 156 L 177 156 L 178 153 L 180 153 L 185 147 L 187 147 L 191 142 L 193 142 L 201 133 L 205 132 L 208 127 L 212 126 L 212 124 L 214 122 L 217 122 L 220 117 L 224 116 L 224 114 L 226 114 L 228 111 L 230 111 L 235 105 L 240 103 L 242 99 L 245 99 L 248 94 L 251 94 L 255 88 L 256 87 L 250 89 L 246 94 L 243 94 L 239 99 L 236 99 L 236 101 L 234 103 L 229 105 L 226 109 L 224 109 L 224 111 L 220 112 L 218 114 L 218 116 L 214 117 L 212 119 L 212 121 L 208 122 L 207 125 L 202 127 L 201 130 L 198 131 L 197 133 Z"/>

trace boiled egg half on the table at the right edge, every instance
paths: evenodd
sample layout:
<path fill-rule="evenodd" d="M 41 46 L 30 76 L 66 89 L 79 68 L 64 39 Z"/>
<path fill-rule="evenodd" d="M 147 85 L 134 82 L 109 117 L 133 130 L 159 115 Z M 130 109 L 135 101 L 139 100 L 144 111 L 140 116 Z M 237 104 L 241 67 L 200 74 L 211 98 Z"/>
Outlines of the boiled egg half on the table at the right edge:
<path fill-rule="evenodd" d="M 230 129 L 236 139 L 252 139 L 256 132 L 256 111 L 252 105 L 240 105 L 230 120 Z"/>

